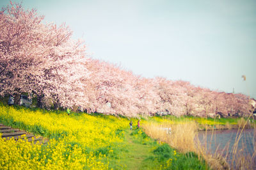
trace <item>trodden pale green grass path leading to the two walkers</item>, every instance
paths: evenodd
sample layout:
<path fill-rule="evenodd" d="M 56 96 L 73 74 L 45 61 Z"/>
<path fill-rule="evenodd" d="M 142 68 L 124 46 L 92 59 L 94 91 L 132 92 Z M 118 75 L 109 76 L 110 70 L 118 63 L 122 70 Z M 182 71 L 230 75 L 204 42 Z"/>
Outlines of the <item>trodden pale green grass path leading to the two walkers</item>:
<path fill-rule="evenodd" d="M 154 146 L 139 143 L 136 137 L 131 135 L 131 130 L 127 129 L 124 132 L 125 153 L 120 159 L 120 164 L 124 165 L 125 169 L 147 169 L 147 165 L 143 164 L 143 160 L 154 155 L 152 153 Z"/>

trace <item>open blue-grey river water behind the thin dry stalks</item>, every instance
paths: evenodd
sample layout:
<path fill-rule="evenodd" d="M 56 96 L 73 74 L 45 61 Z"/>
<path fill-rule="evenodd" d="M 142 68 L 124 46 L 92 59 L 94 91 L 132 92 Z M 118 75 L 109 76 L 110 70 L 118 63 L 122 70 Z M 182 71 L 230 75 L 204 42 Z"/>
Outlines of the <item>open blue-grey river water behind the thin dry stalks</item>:
<path fill-rule="evenodd" d="M 241 134 L 241 138 L 237 144 L 237 155 L 234 155 L 232 151 L 238 137 Z M 207 151 L 209 153 L 220 153 L 225 157 L 227 155 L 228 164 L 232 164 L 232 158 L 234 158 L 233 164 L 236 165 L 236 158 L 241 157 L 239 153 L 243 153 L 248 158 L 253 157 L 253 153 L 256 151 L 256 129 L 244 129 L 241 130 L 232 129 L 232 130 L 208 130 L 198 132 L 198 138 L 200 143 L 205 146 L 207 145 Z M 255 155 L 256 156 L 256 155 Z M 256 168 L 256 157 L 253 157 L 252 164 Z"/>

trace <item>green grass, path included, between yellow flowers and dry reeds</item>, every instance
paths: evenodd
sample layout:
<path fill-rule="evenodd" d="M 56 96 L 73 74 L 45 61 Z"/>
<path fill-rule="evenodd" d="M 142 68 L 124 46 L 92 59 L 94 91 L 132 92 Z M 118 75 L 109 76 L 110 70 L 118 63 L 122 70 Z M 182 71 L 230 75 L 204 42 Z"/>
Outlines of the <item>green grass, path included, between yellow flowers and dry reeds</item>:
<path fill-rule="evenodd" d="M 118 169 L 208 169 L 195 153 L 178 153 L 168 144 L 150 139 L 143 130 L 124 130 L 124 146 L 114 151 L 110 168 Z M 119 165 L 119 166 L 117 166 Z"/>

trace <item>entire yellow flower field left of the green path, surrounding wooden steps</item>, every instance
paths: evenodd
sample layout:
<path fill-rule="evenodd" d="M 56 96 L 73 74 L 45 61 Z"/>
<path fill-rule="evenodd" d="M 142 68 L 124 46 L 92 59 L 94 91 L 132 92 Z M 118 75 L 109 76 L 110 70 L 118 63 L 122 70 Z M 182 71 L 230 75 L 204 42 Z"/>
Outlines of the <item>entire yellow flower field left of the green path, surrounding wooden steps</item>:
<path fill-rule="evenodd" d="M 0 120 L 22 123 L 31 131 L 37 128 L 51 138 L 47 144 L 0 138 L 1 169 L 108 169 L 106 153 L 97 150 L 106 147 L 113 153 L 111 147 L 123 142 L 116 130 L 129 124 L 115 116 L 67 116 L 1 105 Z"/>

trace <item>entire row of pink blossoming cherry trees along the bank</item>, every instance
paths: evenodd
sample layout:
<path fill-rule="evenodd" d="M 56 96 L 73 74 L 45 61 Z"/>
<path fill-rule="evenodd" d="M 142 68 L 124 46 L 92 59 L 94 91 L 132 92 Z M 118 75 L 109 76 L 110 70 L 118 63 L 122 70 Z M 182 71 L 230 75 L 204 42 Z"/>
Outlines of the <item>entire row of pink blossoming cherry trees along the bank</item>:
<path fill-rule="evenodd" d="M 10 3 L 0 12 L 0 95 L 31 93 L 42 107 L 50 98 L 55 108 L 80 106 L 105 114 L 168 113 L 209 116 L 221 112 L 248 114 L 242 94 L 220 93 L 189 82 L 163 77 L 146 79 L 86 57 L 81 40 L 61 24 L 45 24 L 36 10 Z"/>

